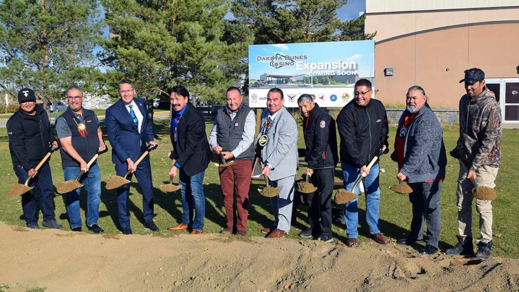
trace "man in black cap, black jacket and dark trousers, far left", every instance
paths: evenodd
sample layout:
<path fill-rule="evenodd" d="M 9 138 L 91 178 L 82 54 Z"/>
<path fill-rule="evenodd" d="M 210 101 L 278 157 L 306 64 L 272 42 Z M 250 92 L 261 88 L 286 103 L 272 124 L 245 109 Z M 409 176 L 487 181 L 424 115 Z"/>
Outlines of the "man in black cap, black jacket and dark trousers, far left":
<path fill-rule="evenodd" d="M 49 152 L 49 147 L 58 147 L 58 142 L 50 129 L 49 116 L 42 104 L 36 104 L 36 96 L 30 88 L 18 91 L 20 109 L 7 121 L 9 151 L 12 167 L 19 183 L 34 175 L 31 186 L 35 189 L 22 195 L 22 210 L 25 224 L 29 228 L 39 229 L 36 218 L 35 193 L 40 194 L 40 208 L 43 213 L 43 225 L 47 228 L 61 229 L 54 215 L 52 175 L 48 161 L 36 172 L 34 168 Z"/>

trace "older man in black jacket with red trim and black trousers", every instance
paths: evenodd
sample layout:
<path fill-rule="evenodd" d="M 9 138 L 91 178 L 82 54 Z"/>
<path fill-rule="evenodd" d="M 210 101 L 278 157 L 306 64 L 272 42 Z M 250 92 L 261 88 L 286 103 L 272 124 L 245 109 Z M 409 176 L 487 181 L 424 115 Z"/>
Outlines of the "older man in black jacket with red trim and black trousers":
<path fill-rule="evenodd" d="M 303 115 L 305 161 L 308 163 L 305 173 L 311 176 L 311 182 L 317 187 L 317 191 L 308 194 L 307 199 L 310 228 L 303 230 L 299 236 L 309 238 L 314 234 L 320 241 L 332 242 L 331 199 L 338 161 L 335 121 L 308 94 L 301 95 L 297 104 Z"/>

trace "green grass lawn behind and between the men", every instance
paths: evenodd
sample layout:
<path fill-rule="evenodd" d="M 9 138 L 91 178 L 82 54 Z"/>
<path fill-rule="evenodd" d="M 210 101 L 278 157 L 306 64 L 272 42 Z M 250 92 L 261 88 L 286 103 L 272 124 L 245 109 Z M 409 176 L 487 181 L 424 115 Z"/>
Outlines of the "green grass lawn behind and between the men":
<path fill-rule="evenodd" d="M 207 131 L 210 130 L 212 122 L 207 122 Z M 390 128 L 390 145 L 393 145 L 395 128 Z M 169 125 L 167 121 L 158 121 L 155 123 L 155 134 L 159 136 L 159 148 L 151 153 L 151 163 L 153 172 L 153 184 L 155 186 L 155 213 L 156 223 L 161 229 L 162 233 L 171 233 L 166 229 L 172 225 L 180 222 L 182 205 L 180 200 L 180 193 L 163 193 L 158 187 L 168 180 L 168 171 L 171 161 L 166 157 L 167 153 L 172 149 L 169 141 Z M 444 141 L 447 152 L 453 149 L 457 137 L 458 128 L 456 126 L 444 127 Z M 519 130 L 503 130 L 502 142 L 502 161 L 501 168 L 496 180 L 498 198 L 493 203 L 494 209 L 494 233 L 502 234 L 501 237 L 494 237 L 493 255 L 519 258 L 519 221 L 516 219 L 517 209 L 519 208 L 519 198 L 515 194 L 517 172 L 519 167 L 515 161 L 519 161 L 519 154 L 515 149 L 515 145 L 519 144 Z M 299 133 L 299 148 L 303 148 L 302 134 Z M 392 148 L 392 147 L 391 147 Z M 0 129 L 0 160 L 3 162 L 0 165 L 0 221 L 7 222 L 13 225 L 24 226 L 25 223 L 22 218 L 21 203 L 19 197 L 7 196 L 7 191 L 11 185 L 17 182 L 8 150 L 8 138 L 6 129 Z M 107 153 L 101 155 L 99 158 L 102 176 L 102 194 L 100 206 L 99 224 L 105 229 L 106 233 L 119 233 L 117 229 L 117 205 L 115 190 L 105 190 L 105 181 L 115 174 L 114 165 L 111 162 L 111 154 Z M 396 167 L 394 162 L 390 161 L 389 155 L 381 157 L 381 168 L 385 172 L 380 173 L 380 188 L 381 188 L 381 202 L 380 202 L 380 230 L 383 231 L 390 238 L 402 238 L 406 236 L 411 222 L 411 204 L 408 202 L 406 195 L 395 194 L 388 188 L 397 183 Z M 440 234 L 440 248 L 445 250 L 449 245 L 456 242 L 457 234 L 457 207 L 456 207 L 456 179 L 458 175 L 458 163 L 454 158 L 448 157 L 447 175 L 443 184 L 443 192 L 441 198 L 441 216 L 442 228 Z M 63 171 L 61 169 L 61 160 L 59 153 L 52 155 L 51 169 L 53 174 L 53 183 L 56 187 L 59 182 L 63 181 Z M 298 177 L 304 172 L 306 168 L 300 167 L 298 170 Z M 337 169 L 336 178 L 340 181 L 340 171 Z M 175 179 L 177 182 L 177 179 Z M 260 181 L 253 181 L 250 191 L 250 214 L 248 222 L 248 234 L 251 236 L 263 236 L 260 232 L 262 227 L 271 225 L 273 216 L 271 214 L 271 207 L 269 200 L 258 194 L 257 189 L 261 188 L 263 183 Z M 211 163 L 206 170 L 206 177 L 204 178 L 204 192 L 206 194 L 206 225 L 205 231 L 208 233 L 215 233 L 224 226 L 225 211 L 222 204 L 222 195 L 220 191 L 220 179 L 218 178 L 217 167 Z M 139 191 L 138 184 L 133 180 L 132 188 L 130 190 L 130 212 L 131 224 L 134 233 L 149 234 L 147 229 L 144 229 L 142 222 L 142 197 Z M 81 216 L 84 218 L 84 209 L 86 206 L 85 196 L 81 196 Z M 57 196 L 54 198 L 56 204 L 56 216 L 58 221 L 63 224 L 64 229 L 69 230 L 69 224 L 66 217 L 66 209 L 63 203 L 63 197 Z M 365 223 L 365 201 L 364 197 L 360 197 L 360 237 L 361 242 L 368 241 L 368 228 Z M 298 238 L 297 234 L 301 229 L 307 227 L 306 223 L 307 207 L 300 207 L 297 218 L 292 222 L 292 229 L 289 238 Z M 42 216 L 40 215 L 39 222 L 41 223 Z M 477 227 L 477 213 L 473 208 L 473 226 L 474 237 L 479 235 L 479 228 Z M 86 230 L 86 227 L 84 228 Z M 345 241 L 345 225 L 334 224 L 333 235 L 336 241 Z M 184 231 L 176 232 L 184 233 Z"/>

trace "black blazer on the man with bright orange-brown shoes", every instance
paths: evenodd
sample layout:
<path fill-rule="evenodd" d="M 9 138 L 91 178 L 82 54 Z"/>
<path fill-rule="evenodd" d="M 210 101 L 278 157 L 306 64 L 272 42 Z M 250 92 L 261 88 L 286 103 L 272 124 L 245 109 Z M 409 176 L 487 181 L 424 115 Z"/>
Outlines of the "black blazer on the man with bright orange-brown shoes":
<path fill-rule="evenodd" d="M 211 150 L 202 114 L 190 102 L 186 107 L 176 126 L 178 139 L 173 139 L 173 129 L 170 130 L 170 139 L 173 144 L 172 158 L 176 159 L 186 175 L 193 176 L 207 168 Z"/>

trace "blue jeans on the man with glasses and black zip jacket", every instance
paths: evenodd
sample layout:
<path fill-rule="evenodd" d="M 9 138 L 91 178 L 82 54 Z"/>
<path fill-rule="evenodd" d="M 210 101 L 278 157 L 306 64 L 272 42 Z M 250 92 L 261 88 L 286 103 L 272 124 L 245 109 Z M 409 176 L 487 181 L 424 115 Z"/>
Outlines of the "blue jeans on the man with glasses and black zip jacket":
<path fill-rule="evenodd" d="M 351 165 L 342 163 L 344 175 L 344 187 L 350 191 L 353 187 L 353 183 L 360 176 L 360 169 Z M 375 164 L 370 174 L 367 175 L 364 180 L 364 194 L 366 195 L 366 222 L 370 227 L 370 233 L 379 233 L 378 229 L 378 206 L 380 204 L 380 188 L 378 185 L 378 163 Z M 356 194 L 360 193 L 359 187 L 353 191 Z M 346 212 L 344 213 L 344 221 L 346 222 L 346 232 L 349 238 L 357 238 L 359 231 L 357 226 L 359 225 L 359 208 L 358 198 L 346 203 Z"/>

